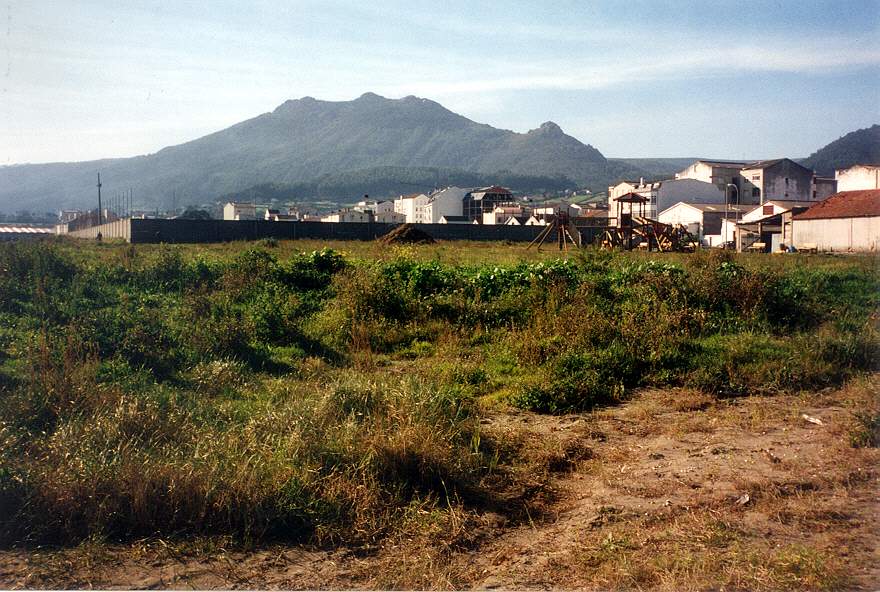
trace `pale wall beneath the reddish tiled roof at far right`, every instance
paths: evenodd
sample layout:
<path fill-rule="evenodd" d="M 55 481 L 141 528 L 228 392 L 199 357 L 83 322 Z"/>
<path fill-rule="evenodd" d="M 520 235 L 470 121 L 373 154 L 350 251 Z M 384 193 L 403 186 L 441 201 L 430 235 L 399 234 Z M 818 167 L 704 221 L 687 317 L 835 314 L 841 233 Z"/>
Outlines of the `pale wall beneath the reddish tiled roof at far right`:
<path fill-rule="evenodd" d="M 815 244 L 820 251 L 880 250 L 880 216 L 794 220 L 792 235 L 795 247 Z"/>

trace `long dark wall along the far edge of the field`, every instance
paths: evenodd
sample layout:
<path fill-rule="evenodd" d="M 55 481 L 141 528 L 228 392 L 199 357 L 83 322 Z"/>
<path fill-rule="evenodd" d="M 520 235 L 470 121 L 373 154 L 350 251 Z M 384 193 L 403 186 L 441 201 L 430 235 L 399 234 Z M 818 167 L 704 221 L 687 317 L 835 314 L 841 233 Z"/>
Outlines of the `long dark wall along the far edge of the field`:
<path fill-rule="evenodd" d="M 94 238 L 99 229 L 103 238 L 122 238 L 132 243 L 220 243 L 238 240 L 277 238 L 285 240 L 374 240 L 393 230 L 397 224 L 378 222 L 273 222 L 266 220 L 125 220 L 125 228 L 88 229 L 72 232 L 81 238 Z M 530 242 L 543 226 L 502 226 L 479 224 L 415 224 L 436 240 Z M 604 229 L 579 228 L 582 242 L 591 243 Z M 118 236 L 117 236 L 118 234 Z"/>

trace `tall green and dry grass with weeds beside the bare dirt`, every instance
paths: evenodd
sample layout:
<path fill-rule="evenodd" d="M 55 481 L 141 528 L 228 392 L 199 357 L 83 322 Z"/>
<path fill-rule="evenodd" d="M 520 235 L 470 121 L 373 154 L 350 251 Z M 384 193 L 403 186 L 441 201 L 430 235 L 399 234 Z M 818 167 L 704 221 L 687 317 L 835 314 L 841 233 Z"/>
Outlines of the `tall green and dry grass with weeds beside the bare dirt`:
<path fill-rule="evenodd" d="M 101 249 L 0 245 L 5 543 L 373 540 L 494 503 L 478 397 L 773 393 L 880 357 L 873 260 Z"/>

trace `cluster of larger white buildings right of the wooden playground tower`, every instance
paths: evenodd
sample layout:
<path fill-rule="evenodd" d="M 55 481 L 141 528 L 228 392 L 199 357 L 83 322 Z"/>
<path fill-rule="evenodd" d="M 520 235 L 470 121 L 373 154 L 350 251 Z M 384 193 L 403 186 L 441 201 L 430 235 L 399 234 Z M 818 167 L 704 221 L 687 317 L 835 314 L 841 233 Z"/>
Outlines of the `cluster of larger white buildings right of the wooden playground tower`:
<path fill-rule="evenodd" d="M 880 189 L 877 165 L 840 169 L 832 179 L 785 158 L 756 163 L 699 160 L 674 179 L 624 181 L 609 187 L 609 224 L 627 226 L 641 216 L 683 225 L 707 247 L 735 244 L 743 250 L 755 245 L 754 249 L 778 251 L 801 242 L 809 248 L 814 241 L 794 236 L 794 221 L 800 214 L 838 191 L 876 189 Z M 871 216 L 870 208 L 862 210 L 862 217 Z M 873 235 L 862 235 L 860 227 L 855 228 L 853 240 L 823 244 L 837 250 L 876 248 Z"/>

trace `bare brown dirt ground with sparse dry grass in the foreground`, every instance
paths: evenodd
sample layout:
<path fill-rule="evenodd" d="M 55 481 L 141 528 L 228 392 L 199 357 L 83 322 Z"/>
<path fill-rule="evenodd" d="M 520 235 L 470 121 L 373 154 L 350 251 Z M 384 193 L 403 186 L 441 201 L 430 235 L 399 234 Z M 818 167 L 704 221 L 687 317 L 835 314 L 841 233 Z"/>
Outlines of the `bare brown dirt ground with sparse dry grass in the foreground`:
<path fill-rule="evenodd" d="M 496 414 L 485 432 L 547 465 L 531 519 L 487 513 L 457 544 L 375 549 L 3 550 L 0 587 L 875 590 L 880 450 L 851 434 L 878 388 L 874 376 L 722 401 L 646 390 L 591 414 Z"/>

